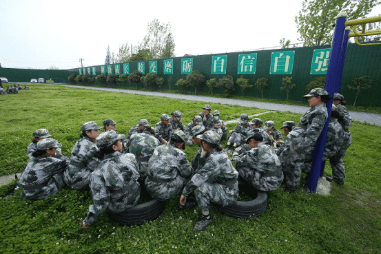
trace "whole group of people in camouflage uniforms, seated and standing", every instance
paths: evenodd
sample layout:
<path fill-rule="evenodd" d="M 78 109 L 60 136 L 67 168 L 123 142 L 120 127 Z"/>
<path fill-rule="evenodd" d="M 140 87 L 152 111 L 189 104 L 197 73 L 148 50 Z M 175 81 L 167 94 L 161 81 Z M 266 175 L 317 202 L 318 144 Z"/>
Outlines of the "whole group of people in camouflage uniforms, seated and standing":
<path fill-rule="evenodd" d="M 201 215 L 194 230 L 203 231 L 212 220 L 212 202 L 227 206 L 238 199 L 238 176 L 260 191 L 274 191 L 285 182 L 285 191 L 290 193 L 296 191 L 302 171 L 308 178 L 313 146 L 327 119 L 324 103 L 331 96 L 324 89 L 313 89 L 305 98 L 311 109 L 298 126 L 292 121 L 283 123 L 284 142 L 274 121 L 261 128 L 262 120 L 249 122 L 247 114 L 242 114 L 236 128 L 229 131 L 226 147 L 233 150 L 231 160 L 236 167 L 220 145 L 227 139 L 227 126 L 219 119 L 218 110 L 210 113 L 209 105 L 186 126 L 177 110 L 171 117 L 162 114 L 155 128 L 145 119 L 138 120 L 127 137 L 116 131 L 112 119 L 103 122 L 101 134 L 102 127 L 95 122 L 84 123 L 71 158 L 61 153 L 61 144 L 50 138 L 47 129 L 38 129 L 28 146 L 30 161 L 18 183 L 23 186 L 21 198 L 43 200 L 65 186 L 90 190 L 93 204 L 83 220 L 87 227 L 106 209 L 119 213 L 136 205 L 144 187 L 160 201 L 181 195 L 177 211 L 197 203 Z M 342 99 L 335 94 L 324 157 L 332 165 L 331 181 L 338 184 L 343 183 L 342 158 L 351 144 L 351 117 Z M 186 145 L 200 147 L 192 164 L 183 151 Z M 191 193 L 196 202 L 187 200 Z"/>

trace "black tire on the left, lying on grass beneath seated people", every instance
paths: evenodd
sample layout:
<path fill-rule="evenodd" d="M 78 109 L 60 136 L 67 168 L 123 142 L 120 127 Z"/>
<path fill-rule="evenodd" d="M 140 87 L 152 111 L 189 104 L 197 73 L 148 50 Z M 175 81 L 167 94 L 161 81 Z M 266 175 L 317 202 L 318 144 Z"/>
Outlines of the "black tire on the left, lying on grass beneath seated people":
<path fill-rule="evenodd" d="M 109 217 L 121 225 L 141 225 L 151 220 L 156 220 L 163 213 L 165 202 L 150 200 L 143 204 L 137 204 L 135 207 L 126 209 L 121 213 L 112 213 L 108 211 Z"/>

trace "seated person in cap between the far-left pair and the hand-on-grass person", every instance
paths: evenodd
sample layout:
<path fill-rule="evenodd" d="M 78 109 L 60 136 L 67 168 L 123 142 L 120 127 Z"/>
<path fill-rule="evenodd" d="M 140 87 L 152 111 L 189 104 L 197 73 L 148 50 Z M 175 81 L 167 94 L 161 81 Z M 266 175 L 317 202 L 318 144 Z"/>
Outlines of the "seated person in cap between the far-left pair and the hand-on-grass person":
<path fill-rule="evenodd" d="M 70 165 L 65 170 L 65 182 L 76 190 L 87 190 L 89 176 L 99 165 L 99 149 L 96 146 L 96 137 L 100 126 L 94 121 L 81 126 L 81 139 L 76 141 L 72 149 Z"/>

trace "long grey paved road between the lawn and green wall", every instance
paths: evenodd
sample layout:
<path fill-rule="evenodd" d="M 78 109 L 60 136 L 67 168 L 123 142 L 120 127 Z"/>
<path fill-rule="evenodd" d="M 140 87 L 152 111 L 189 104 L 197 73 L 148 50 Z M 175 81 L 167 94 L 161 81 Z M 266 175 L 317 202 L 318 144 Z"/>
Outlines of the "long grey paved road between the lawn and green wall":
<path fill-rule="evenodd" d="M 307 112 L 309 107 L 304 106 L 294 106 L 286 104 L 277 104 L 277 103 L 260 103 L 258 101 L 249 101 L 249 100 L 233 100 L 229 98 L 214 98 L 207 96 L 194 96 L 187 94 L 166 94 L 161 92 L 146 92 L 138 90 L 127 90 L 127 89 L 116 89 L 116 88 L 102 88 L 102 87 L 84 87 L 80 85 L 62 85 L 66 87 L 74 87 L 79 89 L 95 89 L 101 91 L 110 91 L 110 92 L 121 92 L 126 94 L 142 94 L 150 96 L 163 96 L 167 98 L 178 98 L 183 100 L 194 100 L 194 101 L 203 101 L 205 103 L 223 103 L 227 105 L 239 105 L 243 107 L 258 107 L 260 109 L 269 109 L 269 110 L 278 110 L 282 112 L 293 112 L 303 114 Z M 371 114 L 371 113 L 362 113 L 362 112 L 349 112 L 353 120 L 358 120 L 360 122 L 372 123 L 375 125 L 381 125 L 381 114 Z"/>

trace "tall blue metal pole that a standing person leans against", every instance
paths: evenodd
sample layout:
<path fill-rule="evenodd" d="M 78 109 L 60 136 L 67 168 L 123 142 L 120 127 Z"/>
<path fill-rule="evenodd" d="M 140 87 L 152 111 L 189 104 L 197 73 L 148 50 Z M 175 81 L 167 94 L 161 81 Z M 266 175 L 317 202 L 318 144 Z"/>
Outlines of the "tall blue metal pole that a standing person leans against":
<path fill-rule="evenodd" d="M 335 87 L 340 90 L 340 83 L 338 83 L 338 76 L 340 75 L 340 81 L 342 76 L 342 67 L 344 61 L 340 59 L 342 54 L 342 45 L 344 39 L 345 21 L 347 21 L 347 13 L 340 12 L 336 17 L 335 30 L 333 32 L 331 53 L 329 56 L 329 65 L 327 70 L 327 78 L 325 81 L 325 90 L 333 96 L 333 92 L 336 91 Z M 309 177 L 308 188 L 312 192 L 316 192 L 318 186 L 318 180 L 322 167 L 322 157 L 325 149 L 325 141 L 327 139 L 329 117 L 331 115 L 332 100 L 327 102 L 328 119 L 324 125 L 324 129 L 320 134 L 320 137 L 316 141 L 315 149 L 313 151 L 311 175 Z"/>

